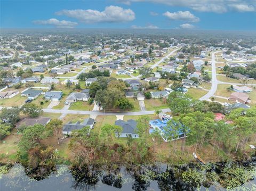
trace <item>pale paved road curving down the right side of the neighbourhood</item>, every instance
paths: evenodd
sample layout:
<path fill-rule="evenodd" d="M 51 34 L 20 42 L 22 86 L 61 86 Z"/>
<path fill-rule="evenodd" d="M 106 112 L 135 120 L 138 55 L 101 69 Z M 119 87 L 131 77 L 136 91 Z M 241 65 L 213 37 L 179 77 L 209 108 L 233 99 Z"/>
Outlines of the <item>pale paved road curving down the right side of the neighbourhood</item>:
<path fill-rule="evenodd" d="M 214 59 L 215 53 L 212 53 L 212 86 L 209 92 L 205 94 L 203 97 L 199 98 L 199 100 L 208 100 L 210 97 L 212 97 L 215 92 L 217 91 L 217 86 L 218 86 L 218 80 L 216 76 L 216 66 L 215 66 L 215 59 Z"/>

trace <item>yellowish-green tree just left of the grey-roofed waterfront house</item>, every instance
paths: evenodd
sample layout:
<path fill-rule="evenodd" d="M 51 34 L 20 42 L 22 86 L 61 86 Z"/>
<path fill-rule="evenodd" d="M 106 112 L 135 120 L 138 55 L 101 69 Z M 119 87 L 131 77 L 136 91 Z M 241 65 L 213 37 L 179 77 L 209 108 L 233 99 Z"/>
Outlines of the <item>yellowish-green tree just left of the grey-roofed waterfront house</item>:
<path fill-rule="evenodd" d="M 47 124 L 46 128 L 52 132 L 54 138 L 57 139 L 57 143 L 59 145 L 62 137 L 62 121 L 58 119 L 53 119 L 50 121 L 50 123 Z"/>

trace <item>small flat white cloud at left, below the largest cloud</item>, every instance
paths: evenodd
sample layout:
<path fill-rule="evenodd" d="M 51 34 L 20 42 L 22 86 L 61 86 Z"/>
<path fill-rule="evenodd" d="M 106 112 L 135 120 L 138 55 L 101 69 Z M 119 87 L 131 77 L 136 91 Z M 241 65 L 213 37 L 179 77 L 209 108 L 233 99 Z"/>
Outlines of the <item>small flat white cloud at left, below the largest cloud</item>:
<path fill-rule="evenodd" d="M 58 19 L 48 19 L 48 20 L 36 20 L 33 21 L 34 24 L 42 24 L 42 25 L 52 25 L 57 28 L 74 28 L 77 25 L 77 22 L 71 21 L 59 21 Z"/>

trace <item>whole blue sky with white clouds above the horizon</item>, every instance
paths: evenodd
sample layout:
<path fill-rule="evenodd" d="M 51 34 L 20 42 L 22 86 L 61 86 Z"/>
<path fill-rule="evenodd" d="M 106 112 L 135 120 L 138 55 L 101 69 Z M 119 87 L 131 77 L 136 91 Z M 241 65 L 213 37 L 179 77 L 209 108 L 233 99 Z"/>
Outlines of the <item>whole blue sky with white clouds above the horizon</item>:
<path fill-rule="evenodd" d="M 256 30 L 256 0 L 0 0 L 0 28 Z"/>

